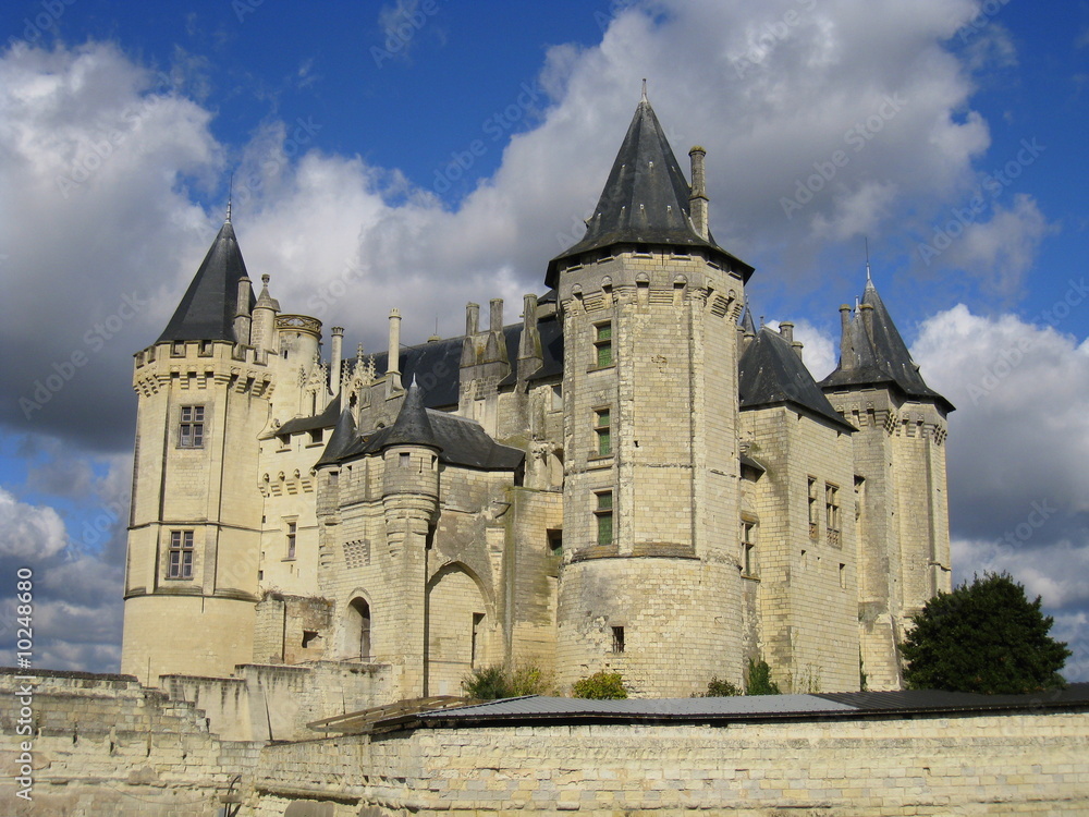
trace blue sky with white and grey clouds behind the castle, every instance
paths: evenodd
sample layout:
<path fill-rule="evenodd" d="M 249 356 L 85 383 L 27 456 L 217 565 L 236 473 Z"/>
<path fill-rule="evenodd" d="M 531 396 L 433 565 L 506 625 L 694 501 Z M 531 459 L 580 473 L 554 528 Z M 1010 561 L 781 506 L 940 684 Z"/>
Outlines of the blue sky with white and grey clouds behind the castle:
<path fill-rule="evenodd" d="M 0 13 L 0 576 L 36 571 L 39 666 L 117 668 L 131 354 L 232 173 L 250 275 L 285 308 L 348 349 L 381 349 L 392 306 L 407 341 L 456 334 L 465 302 L 543 290 L 647 77 L 678 156 L 707 148 L 755 313 L 797 324 L 817 377 L 868 240 L 958 407 L 957 578 L 1008 570 L 1042 595 L 1089 680 L 1089 5 L 284 5 Z"/>

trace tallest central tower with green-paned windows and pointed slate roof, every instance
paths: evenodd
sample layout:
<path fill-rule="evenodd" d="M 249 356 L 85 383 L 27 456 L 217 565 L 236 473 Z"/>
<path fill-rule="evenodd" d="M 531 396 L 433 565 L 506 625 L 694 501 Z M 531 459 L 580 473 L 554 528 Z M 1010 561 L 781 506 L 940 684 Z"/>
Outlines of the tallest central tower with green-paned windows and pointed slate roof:
<path fill-rule="evenodd" d="M 736 321 L 752 268 L 705 230 L 702 156 L 689 187 L 644 96 L 585 237 L 548 267 L 564 320 L 563 683 L 605 668 L 641 695 L 741 681 Z"/>

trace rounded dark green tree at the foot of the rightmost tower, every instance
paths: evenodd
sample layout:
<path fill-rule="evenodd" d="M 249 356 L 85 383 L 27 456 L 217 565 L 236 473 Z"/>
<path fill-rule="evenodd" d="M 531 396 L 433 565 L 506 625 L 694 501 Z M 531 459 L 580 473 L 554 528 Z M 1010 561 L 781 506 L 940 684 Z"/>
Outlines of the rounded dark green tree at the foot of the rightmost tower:
<path fill-rule="evenodd" d="M 940 593 L 911 621 L 901 645 L 908 688 L 995 695 L 1064 685 L 1070 650 L 1049 635 L 1054 620 L 1040 612 L 1040 597 L 1030 602 L 1007 573 Z"/>

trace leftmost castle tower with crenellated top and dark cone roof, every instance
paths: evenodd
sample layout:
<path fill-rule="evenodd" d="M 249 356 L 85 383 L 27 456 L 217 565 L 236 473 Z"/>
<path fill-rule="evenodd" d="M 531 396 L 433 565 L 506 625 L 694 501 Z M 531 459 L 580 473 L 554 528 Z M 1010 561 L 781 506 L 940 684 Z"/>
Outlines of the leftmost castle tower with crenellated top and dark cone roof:
<path fill-rule="evenodd" d="M 248 346 L 253 306 L 228 220 L 158 341 L 136 355 L 121 666 L 150 685 L 228 675 L 253 658 L 257 436 L 273 382 Z"/>

